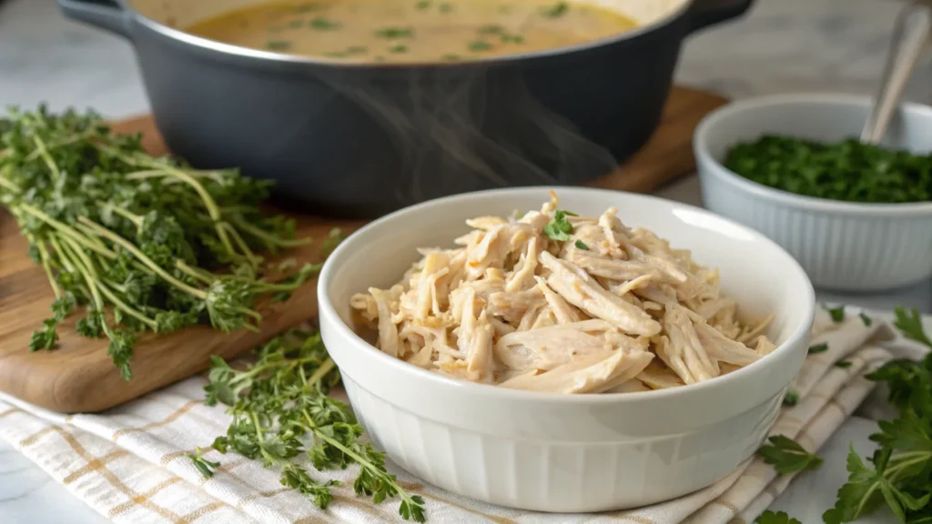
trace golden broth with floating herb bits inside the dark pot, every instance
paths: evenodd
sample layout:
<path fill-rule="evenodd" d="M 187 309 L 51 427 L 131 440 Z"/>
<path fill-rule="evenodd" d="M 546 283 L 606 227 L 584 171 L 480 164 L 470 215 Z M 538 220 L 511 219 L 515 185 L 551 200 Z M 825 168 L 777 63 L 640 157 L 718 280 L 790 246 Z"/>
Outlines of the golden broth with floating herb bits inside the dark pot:
<path fill-rule="evenodd" d="M 554 0 L 319 0 L 247 7 L 185 31 L 334 60 L 456 62 L 572 46 L 636 26 L 604 7 Z"/>

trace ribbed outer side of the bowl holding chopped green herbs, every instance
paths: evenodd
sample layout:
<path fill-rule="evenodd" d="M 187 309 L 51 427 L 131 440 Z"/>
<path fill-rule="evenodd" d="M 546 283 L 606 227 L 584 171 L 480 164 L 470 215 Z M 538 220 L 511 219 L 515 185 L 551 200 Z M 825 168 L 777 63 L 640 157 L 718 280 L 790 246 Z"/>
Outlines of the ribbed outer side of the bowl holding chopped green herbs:
<path fill-rule="evenodd" d="M 706 208 L 780 244 L 816 286 L 875 291 L 932 275 L 932 209 L 927 215 L 818 211 L 730 184 L 725 177 L 737 175 L 723 171 L 700 162 Z"/>

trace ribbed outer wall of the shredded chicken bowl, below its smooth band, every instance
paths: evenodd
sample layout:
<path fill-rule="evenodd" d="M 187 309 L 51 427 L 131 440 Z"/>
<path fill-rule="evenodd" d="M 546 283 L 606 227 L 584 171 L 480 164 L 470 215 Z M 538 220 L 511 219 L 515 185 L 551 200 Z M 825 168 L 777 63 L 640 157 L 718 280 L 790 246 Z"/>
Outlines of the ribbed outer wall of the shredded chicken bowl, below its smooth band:
<path fill-rule="evenodd" d="M 637 507 L 705 488 L 761 447 L 783 399 L 781 392 L 685 434 L 552 442 L 433 421 L 369 393 L 346 374 L 343 383 L 366 433 L 404 470 L 477 501 L 559 513 Z"/>

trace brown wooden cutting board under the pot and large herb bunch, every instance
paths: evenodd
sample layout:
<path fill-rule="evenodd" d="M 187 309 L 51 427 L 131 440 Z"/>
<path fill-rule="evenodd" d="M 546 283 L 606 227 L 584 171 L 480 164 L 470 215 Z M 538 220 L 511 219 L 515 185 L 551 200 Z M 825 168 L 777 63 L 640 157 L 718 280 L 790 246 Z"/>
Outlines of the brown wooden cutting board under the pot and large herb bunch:
<path fill-rule="evenodd" d="M 725 102 L 705 91 L 674 88 L 651 141 L 624 166 L 590 186 L 649 192 L 692 171 L 692 130 L 702 117 Z M 117 122 L 114 128 L 143 132 L 144 145 L 153 155 L 167 152 L 151 117 Z M 349 232 L 362 225 L 313 216 L 295 219 L 298 236 L 314 238 L 324 237 L 334 227 Z M 110 362 L 105 340 L 75 334 L 78 315 L 60 326 L 58 350 L 28 351 L 29 339 L 49 316 L 54 296 L 45 273 L 26 254 L 27 247 L 16 222 L 0 211 L 0 391 L 55 411 L 93 412 L 117 406 L 198 373 L 207 367 L 212 354 L 232 357 L 247 352 L 317 312 L 316 285 L 308 283 L 288 302 L 261 309 L 265 320 L 259 334 L 240 331 L 224 335 L 198 326 L 164 337 L 141 338 L 132 359 L 135 376 L 127 382 Z M 302 262 L 315 260 L 316 246 L 293 255 Z"/>

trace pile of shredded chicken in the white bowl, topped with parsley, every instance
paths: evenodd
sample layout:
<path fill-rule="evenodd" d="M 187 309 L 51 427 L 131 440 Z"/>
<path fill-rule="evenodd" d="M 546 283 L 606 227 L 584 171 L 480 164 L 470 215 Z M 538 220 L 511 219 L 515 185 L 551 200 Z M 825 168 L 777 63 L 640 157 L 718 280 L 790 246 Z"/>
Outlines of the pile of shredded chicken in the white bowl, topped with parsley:
<path fill-rule="evenodd" d="M 610 208 L 480 216 L 350 306 L 382 351 L 447 376 L 550 393 L 637 393 L 715 379 L 776 348 L 719 273 Z M 657 358 L 654 358 L 657 357 Z"/>

